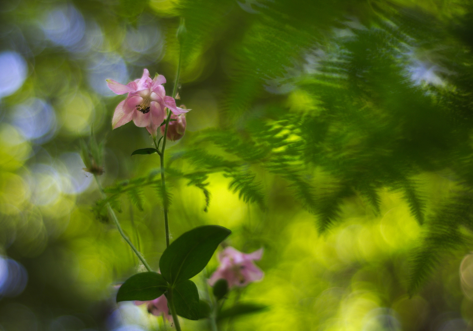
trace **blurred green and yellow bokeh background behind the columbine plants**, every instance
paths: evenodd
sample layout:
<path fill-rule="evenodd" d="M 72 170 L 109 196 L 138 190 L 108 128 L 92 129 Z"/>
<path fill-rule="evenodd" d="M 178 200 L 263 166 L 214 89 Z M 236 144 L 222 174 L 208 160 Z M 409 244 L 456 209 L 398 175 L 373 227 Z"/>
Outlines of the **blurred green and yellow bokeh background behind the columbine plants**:
<path fill-rule="evenodd" d="M 105 79 L 148 68 L 169 95 L 181 17 L 177 104 L 193 110 L 167 158 L 203 184 L 170 178 L 171 235 L 219 224 L 236 249 L 264 247 L 263 280 L 238 295 L 270 308 L 222 329 L 471 330 L 464 0 L 2 0 L 0 330 L 165 327 L 144 306 L 115 304 L 114 285 L 143 268 L 93 213 L 79 140 L 92 129 L 106 140 L 105 187 L 159 167 L 157 154 L 130 157 L 151 147 L 146 130 L 112 131 L 123 96 Z M 152 186 L 143 197 L 139 208 L 117 196 L 118 217 L 158 268 L 162 204 Z"/>

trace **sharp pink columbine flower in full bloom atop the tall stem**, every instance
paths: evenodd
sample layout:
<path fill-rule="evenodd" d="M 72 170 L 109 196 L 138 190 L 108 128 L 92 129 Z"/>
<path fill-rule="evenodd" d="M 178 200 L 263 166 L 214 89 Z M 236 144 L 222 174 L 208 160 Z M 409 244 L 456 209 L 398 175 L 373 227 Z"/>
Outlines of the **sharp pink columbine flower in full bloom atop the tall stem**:
<path fill-rule="evenodd" d="M 115 108 L 112 119 L 113 128 L 122 126 L 131 120 L 136 126 L 146 127 L 148 132 L 156 136 L 158 126 L 166 119 L 166 107 L 173 114 L 180 115 L 188 112 L 187 109 L 176 107 L 175 99 L 166 97 L 162 84 L 166 83 L 163 75 L 149 78 L 149 71 L 145 69 L 140 79 L 126 85 L 107 79 L 107 86 L 116 94 L 128 93 L 126 99 Z"/>

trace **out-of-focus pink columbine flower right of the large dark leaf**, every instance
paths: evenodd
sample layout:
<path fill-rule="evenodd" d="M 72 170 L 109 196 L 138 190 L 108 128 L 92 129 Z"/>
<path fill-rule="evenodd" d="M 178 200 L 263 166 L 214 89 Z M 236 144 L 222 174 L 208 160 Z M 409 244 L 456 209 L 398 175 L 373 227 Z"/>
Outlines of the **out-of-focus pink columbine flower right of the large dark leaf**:
<path fill-rule="evenodd" d="M 221 278 L 227 280 L 228 287 L 246 286 L 251 282 L 261 280 L 264 273 L 253 261 L 260 260 L 262 256 L 263 248 L 245 254 L 231 246 L 226 247 L 219 253 L 220 266 L 209 278 L 210 286 Z"/>

